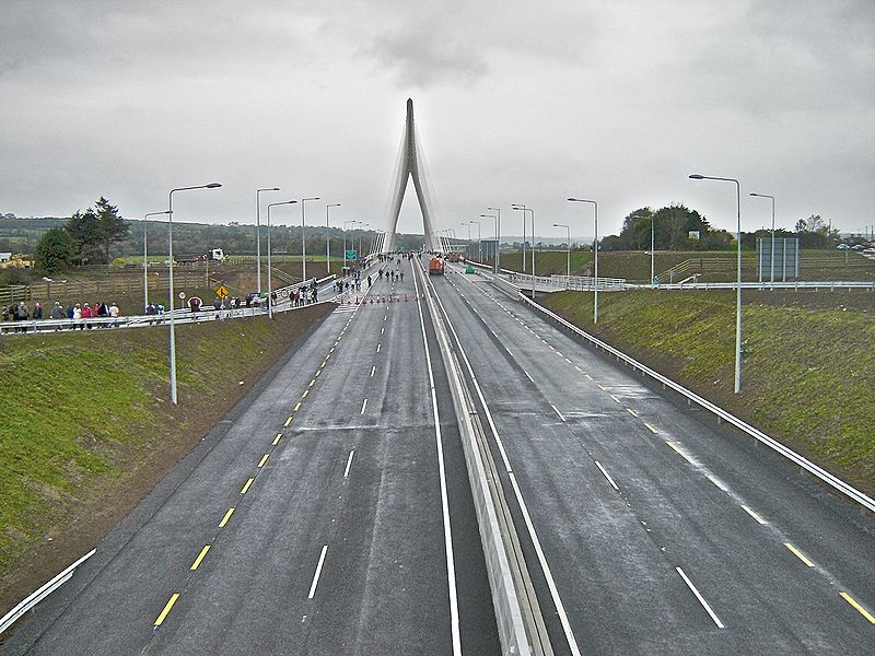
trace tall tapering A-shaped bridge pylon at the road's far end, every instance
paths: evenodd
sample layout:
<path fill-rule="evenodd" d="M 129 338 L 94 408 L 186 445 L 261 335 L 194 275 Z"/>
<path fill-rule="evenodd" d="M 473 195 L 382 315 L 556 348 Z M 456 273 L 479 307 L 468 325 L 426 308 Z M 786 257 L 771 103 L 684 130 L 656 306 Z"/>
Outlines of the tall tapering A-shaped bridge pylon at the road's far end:
<path fill-rule="evenodd" d="M 429 250 L 445 251 L 446 246 L 443 239 L 434 230 L 433 214 L 429 207 L 427 187 L 422 174 L 422 155 L 417 147 L 416 127 L 413 124 L 413 101 L 407 98 L 407 120 L 404 128 L 404 141 L 401 142 L 401 157 L 398 166 L 398 175 L 395 178 L 394 191 L 392 195 L 392 207 L 388 216 L 388 225 L 383 243 L 378 247 L 380 253 L 395 249 L 395 233 L 398 230 L 398 215 L 401 212 L 404 194 L 407 190 L 409 178 L 413 178 L 413 188 L 417 191 L 419 209 L 422 212 L 422 224 L 425 233 L 425 248 Z"/>

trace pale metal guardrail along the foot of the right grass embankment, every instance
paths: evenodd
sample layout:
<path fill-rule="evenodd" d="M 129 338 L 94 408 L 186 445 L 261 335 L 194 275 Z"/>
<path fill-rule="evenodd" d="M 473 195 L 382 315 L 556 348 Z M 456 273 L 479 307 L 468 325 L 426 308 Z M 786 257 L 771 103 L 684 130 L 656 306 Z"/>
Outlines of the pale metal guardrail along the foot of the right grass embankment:
<path fill-rule="evenodd" d="M 620 351 L 618 349 L 615 349 L 614 347 L 605 343 L 604 341 L 602 341 L 597 337 L 595 337 L 593 335 L 590 335 L 588 332 L 586 332 L 584 330 L 581 330 L 580 328 L 578 328 L 571 321 L 568 321 L 567 319 L 560 317 L 558 314 L 547 309 L 546 307 L 544 307 L 539 303 L 536 303 L 532 298 L 528 298 L 523 293 L 518 293 L 516 297 L 517 297 L 517 300 L 522 301 L 523 303 L 527 303 L 528 305 L 530 305 L 535 311 L 544 314 L 545 316 L 547 316 L 548 318 L 552 319 L 557 324 L 560 324 L 560 325 L 564 326 L 567 329 L 569 329 L 572 332 L 576 333 L 578 336 L 582 337 L 583 339 L 588 341 L 594 347 L 599 348 L 599 349 L 610 353 L 611 355 L 616 356 L 618 360 L 621 360 L 621 361 L 626 362 L 626 364 L 630 365 L 632 368 L 635 368 L 635 370 L 642 372 L 643 374 L 646 374 L 648 376 L 650 376 L 654 380 L 656 380 L 658 383 L 662 383 L 664 386 L 673 389 L 674 391 L 676 391 L 680 396 L 687 398 L 691 402 L 696 403 L 697 406 L 699 406 L 703 410 L 707 410 L 707 411 L 711 412 L 712 414 L 714 414 L 715 417 L 718 417 L 721 420 L 725 421 L 726 423 L 730 423 L 733 426 L 735 426 L 736 429 L 740 430 L 742 432 L 747 433 L 748 435 L 750 435 L 755 440 L 759 441 L 760 443 L 765 444 L 769 448 L 773 449 L 774 452 L 777 452 L 778 454 L 780 454 L 781 456 L 783 456 L 784 458 L 786 458 L 791 462 L 797 465 L 798 467 L 801 467 L 802 469 L 804 469 L 808 473 L 810 473 L 814 477 L 818 478 L 819 480 L 824 481 L 825 483 L 827 483 L 828 485 L 830 485 L 831 488 L 833 488 L 838 492 L 841 492 L 844 496 L 847 496 L 851 501 L 853 501 L 853 502 L 860 504 L 861 506 L 863 506 L 864 508 L 875 513 L 875 500 L 873 500 L 872 497 L 867 496 L 866 494 L 864 494 L 863 492 L 861 492 L 856 488 L 852 487 L 851 484 L 844 482 L 843 480 L 841 480 L 837 476 L 830 473 L 826 469 L 824 469 L 821 467 L 818 467 L 817 465 L 815 465 L 814 462 L 812 462 L 810 460 L 808 460 L 804 456 L 797 454 L 796 452 L 794 452 L 790 447 L 784 446 L 783 444 L 781 444 L 780 442 L 778 442 L 773 437 L 770 437 L 769 435 L 767 435 L 766 433 L 763 433 L 759 429 L 756 429 L 755 426 L 751 426 L 747 422 L 745 422 L 745 421 L 738 419 L 737 417 L 735 417 L 734 414 L 727 412 L 726 410 L 724 410 L 720 406 L 716 406 L 715 403 L 712 403 L 711 401 L 700 397 L 695 391 L 691 391 L 691 390 L 687 389 L 686 387 L 684 387 L 682 385 L 679 385 L 678 383 L 675 383 L 670 378 L 662 375 L 661 373 L 653 371 L 649 366 L 640 363 L 639 361 L 634 360 L 633 358 L 630 358 L 629 355 L 627 355 L 622 351 Z"/>

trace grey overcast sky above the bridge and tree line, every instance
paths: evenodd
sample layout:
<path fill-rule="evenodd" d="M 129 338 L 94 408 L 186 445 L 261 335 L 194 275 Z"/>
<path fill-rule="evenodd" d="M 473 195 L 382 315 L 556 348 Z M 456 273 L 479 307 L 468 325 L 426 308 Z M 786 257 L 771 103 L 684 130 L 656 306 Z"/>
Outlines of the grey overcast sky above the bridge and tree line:
<path fill-rule="evenodd" d="M 682 202 L 735 230 L 812 213 L 875 224 L 875 2 L 734 0 L 155 2 L 0 0 L 0 212 L 255 223 L 320 196 L 307 223 L 385 226 L 405 120 L 438 224 L 510 203 L 537 233 L 617 233 Z M 408 189 L 399 230 L 422 232 Z M 275 208 L 275 223 L 300 209 Z M 489 222 L 489 220 L 486 220 Z M 482 234 L 492 234 L 482 225 Z M 476 229 L 475 229 L 476 234 Z"/>

